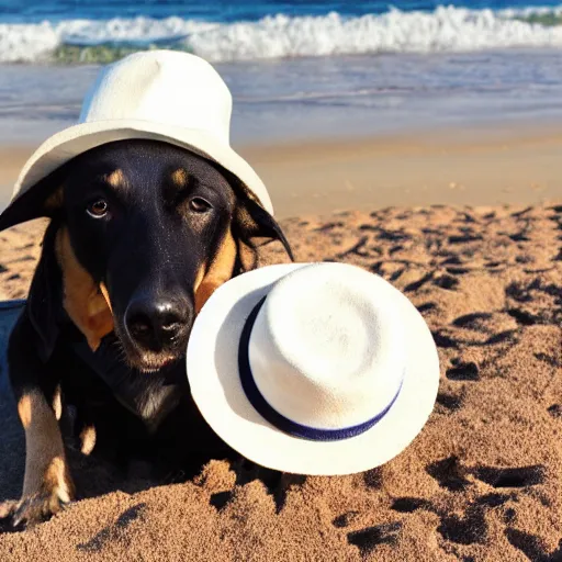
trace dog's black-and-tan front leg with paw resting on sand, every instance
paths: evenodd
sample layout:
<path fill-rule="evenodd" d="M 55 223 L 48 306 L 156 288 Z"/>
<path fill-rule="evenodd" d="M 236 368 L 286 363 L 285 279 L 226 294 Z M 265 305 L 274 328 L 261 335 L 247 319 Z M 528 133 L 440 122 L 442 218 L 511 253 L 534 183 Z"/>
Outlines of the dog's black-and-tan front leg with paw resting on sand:
<path fill-rule="evenodd" d="M 25 431 L 25 476 L 19 502 L 0 505 L 0 517 L 13 525 L 34 524 L 59 512 L 74 497 L 63 436 L 58 426 L 60 397 L 49 392 L 48 373 L 29 349 L 26 318 L 14 328 L 9 346 L 9 367 L 18 413 Z M 23 342 L 27 342 L 23 346 Z M 43 384 L 40 384 L 43 383 Z"/>

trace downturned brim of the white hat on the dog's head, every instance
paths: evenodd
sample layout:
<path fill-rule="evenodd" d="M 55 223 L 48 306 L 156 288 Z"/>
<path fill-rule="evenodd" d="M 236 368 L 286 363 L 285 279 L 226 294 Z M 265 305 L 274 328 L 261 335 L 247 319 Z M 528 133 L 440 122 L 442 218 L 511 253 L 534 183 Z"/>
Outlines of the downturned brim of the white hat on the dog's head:
<path fill-rule="evenodd" d="M 76 156 L 97 146 L 132 138 L 162 140 L 217 162 L 234 173 L 257 196 L 263 209 L 273 214 L 273 205 L 263 182 L 227 143 L 203 130 L 142 120 L 80 123 L 47 138 L 23 167 L 14 187 L 12 202 Z"/>

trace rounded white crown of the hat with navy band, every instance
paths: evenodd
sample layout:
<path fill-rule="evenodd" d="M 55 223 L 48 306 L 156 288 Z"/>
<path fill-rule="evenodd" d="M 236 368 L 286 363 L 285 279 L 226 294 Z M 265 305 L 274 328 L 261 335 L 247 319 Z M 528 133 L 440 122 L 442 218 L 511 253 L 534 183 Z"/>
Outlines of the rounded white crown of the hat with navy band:
<path fill-rule="evenodd" d="M 316 263 L 277 282 L 249 339 L 255 383 L 285 418 L 317 429 L 363 424 L 400 391 L 401 318 L 382 279 Z"/>

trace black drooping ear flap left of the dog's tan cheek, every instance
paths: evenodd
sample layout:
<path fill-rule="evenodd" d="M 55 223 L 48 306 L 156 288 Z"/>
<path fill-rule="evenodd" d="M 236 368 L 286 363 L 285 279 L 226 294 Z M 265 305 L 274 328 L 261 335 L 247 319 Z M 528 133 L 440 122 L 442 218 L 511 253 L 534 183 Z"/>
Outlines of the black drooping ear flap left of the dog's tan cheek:
<path fill-rule="evenodd" d="M 58 337 L 58 314 L 63 303 L 63 279 L 55 244 L 59 224 L 53 221 L 43 237 L 43 251 L 31 282 L 26 314 L 37 333 L 40 357 L 46 361 Z"/>

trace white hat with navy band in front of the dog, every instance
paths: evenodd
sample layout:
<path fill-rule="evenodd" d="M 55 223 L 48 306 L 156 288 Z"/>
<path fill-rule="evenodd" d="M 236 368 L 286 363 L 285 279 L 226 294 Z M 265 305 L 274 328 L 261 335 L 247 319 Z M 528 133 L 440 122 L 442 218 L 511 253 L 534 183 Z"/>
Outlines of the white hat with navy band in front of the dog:
<path fill-rule="evenodd" d="M 265 267 L 218 288 L 187 353 L 214 431 L 258 464 L 350 474 L 405 449 L 431 413 L 439 360 L 424 318 L 344 263 Z"/>

